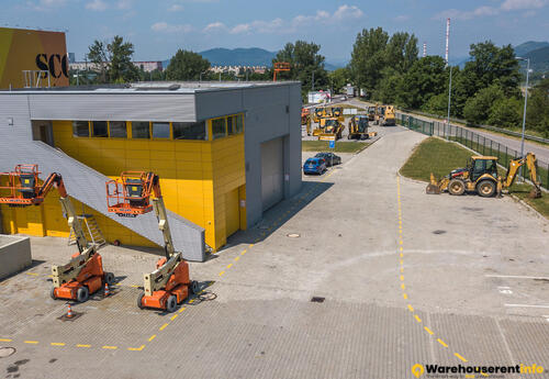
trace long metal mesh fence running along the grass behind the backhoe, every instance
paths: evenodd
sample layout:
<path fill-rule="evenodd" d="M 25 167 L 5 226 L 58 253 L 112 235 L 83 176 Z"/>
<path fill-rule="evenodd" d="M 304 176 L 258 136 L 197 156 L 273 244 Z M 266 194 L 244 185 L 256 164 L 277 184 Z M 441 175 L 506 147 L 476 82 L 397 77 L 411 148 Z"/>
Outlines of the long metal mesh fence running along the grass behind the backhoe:
<path fill-rule="evenodd" d="M 508 167 L 511 159 L 520 156 L 519 152 L 461 126 L 447 125 L 439 121 L 419 120 L 402 113 L 396 113 L 396 123 L 418 133 L 458 142 L 481 155 L 496 156 L 504 167 Z M 549 164 L 538 159 L 537 166 L 541 187 L 549 189 Z M 528 169 L 526 167 L 523 169 L 524 176 L 529 177 Z"/>

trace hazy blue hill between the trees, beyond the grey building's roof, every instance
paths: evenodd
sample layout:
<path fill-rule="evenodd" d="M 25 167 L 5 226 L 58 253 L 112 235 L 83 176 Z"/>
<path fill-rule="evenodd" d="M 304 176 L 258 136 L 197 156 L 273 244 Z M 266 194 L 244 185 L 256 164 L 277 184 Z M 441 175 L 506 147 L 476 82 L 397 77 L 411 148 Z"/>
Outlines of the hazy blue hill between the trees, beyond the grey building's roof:
<path fill-rule="evenodd" d="M 277 53 L 259 47 L 250 48 L 211 48 L 199 53 L 210 60 L 212 66 L 271 66 Z"/>

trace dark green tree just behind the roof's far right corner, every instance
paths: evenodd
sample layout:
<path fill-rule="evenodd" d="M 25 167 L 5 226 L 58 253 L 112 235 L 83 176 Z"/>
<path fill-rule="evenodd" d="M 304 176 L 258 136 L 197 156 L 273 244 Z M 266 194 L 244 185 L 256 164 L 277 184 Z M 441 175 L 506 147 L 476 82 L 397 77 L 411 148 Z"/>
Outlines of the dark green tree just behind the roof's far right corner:
<path fill-rule="evenodd" d="M 272 64 L 277 62 L 288 62 L 290 71 L 279 73 L 279 78 L 301 81 L 301 91 L 305 96 L 313 86 L 314 88 L 326 88 L 328 75 L 324 69 L 324 56 L 318 54 L 321 45 L 307 43 L 305 41 L 295 41 L 295 44 L 287 43 L 285 46 L 277 53 Z"/>

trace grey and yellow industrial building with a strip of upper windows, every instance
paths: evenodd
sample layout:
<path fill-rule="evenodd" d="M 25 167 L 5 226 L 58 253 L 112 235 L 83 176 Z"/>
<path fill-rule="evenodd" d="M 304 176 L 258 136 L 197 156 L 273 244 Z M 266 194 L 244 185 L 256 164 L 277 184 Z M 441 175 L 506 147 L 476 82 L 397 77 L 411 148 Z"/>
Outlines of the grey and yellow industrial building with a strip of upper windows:
<path fill-rule="evenodd" d="M 173 243 L 204 260 L 301 188 L 299 82 L 158 83 L 0 91 L 0 171 L 38 164 L 63 175 L 107 241 L 158 246 L 153 213 L 107 211 L 105 181 L 154 171 Z M 67 237 L 56 191 L 44 207 L 1 205 L 3 233 Z"/>

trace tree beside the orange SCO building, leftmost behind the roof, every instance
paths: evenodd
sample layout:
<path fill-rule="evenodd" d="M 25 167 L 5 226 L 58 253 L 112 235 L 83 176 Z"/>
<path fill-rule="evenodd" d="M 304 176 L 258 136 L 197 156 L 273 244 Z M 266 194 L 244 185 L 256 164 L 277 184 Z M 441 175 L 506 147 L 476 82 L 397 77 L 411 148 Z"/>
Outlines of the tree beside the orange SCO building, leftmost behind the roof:
<path fill-rule="evenodd" d="M 115 35 L 110 43 L 93 41 L 88 59 L 99 68 L 100 82 L 127 82 L 137 80 L 139 70 L 132 63 L 134 45 Z"/>

